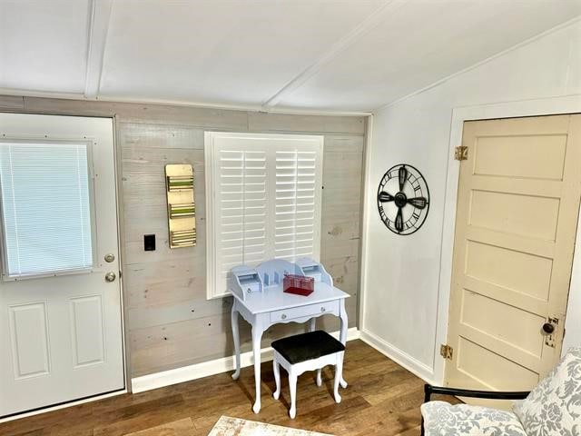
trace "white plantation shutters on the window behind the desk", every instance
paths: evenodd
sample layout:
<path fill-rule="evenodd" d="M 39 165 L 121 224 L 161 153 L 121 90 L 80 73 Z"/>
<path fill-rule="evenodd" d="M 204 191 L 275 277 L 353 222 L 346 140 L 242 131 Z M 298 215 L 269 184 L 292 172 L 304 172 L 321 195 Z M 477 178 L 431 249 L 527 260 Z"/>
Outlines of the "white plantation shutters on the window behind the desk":
<path fill-rule="evenodd" d="M 320 257 L 323 137 L 205 134 L 208 298 L 234 266 Z"/>

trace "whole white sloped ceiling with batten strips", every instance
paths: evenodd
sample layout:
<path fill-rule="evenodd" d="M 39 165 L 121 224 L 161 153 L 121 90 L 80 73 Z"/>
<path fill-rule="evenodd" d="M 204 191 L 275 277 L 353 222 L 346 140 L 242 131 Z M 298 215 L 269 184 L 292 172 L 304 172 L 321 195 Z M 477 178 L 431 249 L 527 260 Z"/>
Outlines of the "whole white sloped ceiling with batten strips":
<path fill-rule="evenodd" d="M 370 111 L 581 0 L 0 0 L 0 94 Z"/>

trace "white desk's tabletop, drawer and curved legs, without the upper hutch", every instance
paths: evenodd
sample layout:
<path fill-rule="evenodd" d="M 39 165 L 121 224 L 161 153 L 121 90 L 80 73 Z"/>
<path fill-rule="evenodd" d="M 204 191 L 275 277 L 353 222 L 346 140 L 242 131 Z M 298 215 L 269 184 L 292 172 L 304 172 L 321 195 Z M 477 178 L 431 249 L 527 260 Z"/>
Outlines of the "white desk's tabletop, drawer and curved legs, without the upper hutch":
<path fill-rule="evenodd" d="M 240 376 L 240 333 L 238 331 L 238 314 L 252 326 L 252 352 L 254 354 L 254 382 L 256 384 L 256 400 L 252 410 L 261 411 L 261 339 L 262 332 L 271 325 L 286 322 L 310 321 L 310 331 L 315 330 L 317 318 L 326 313 L 340 318 L 340 342 L 347 341 L 347 312 L 345 299 L 350 295 L 324 282 L 315 282 L 315 291 L 309 296 L 282 292 L 281 284 L 270 286 L 264 292 L 255 292 L 243 301 L 234 293 L 231 322 L 234 336 L 234 351 L 236 352 L 236 371 L 232 379 Z M 347 382 L 340 381 L 346 388 Z"/>

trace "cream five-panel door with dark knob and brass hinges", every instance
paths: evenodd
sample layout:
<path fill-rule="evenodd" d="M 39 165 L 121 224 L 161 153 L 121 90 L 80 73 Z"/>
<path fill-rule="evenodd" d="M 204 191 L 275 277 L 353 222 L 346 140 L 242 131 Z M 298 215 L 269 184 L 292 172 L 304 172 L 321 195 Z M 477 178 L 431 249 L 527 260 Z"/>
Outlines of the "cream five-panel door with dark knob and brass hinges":
<path fill-rule="evenodd" d="M 528 390 L 563 341 L 581 115 L 467 122 L 462 144 L 446 384 Z"/>

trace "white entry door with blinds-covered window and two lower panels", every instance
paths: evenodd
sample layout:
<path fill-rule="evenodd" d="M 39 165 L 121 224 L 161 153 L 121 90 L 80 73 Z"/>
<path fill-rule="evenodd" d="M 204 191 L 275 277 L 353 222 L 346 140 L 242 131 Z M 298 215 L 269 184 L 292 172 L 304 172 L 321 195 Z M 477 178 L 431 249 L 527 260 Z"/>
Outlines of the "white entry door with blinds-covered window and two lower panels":
<path fill-rule="evenodd" d="M 113 120 L 0 114 L 0 204 L 0 416 L 123 390 Z"/>

